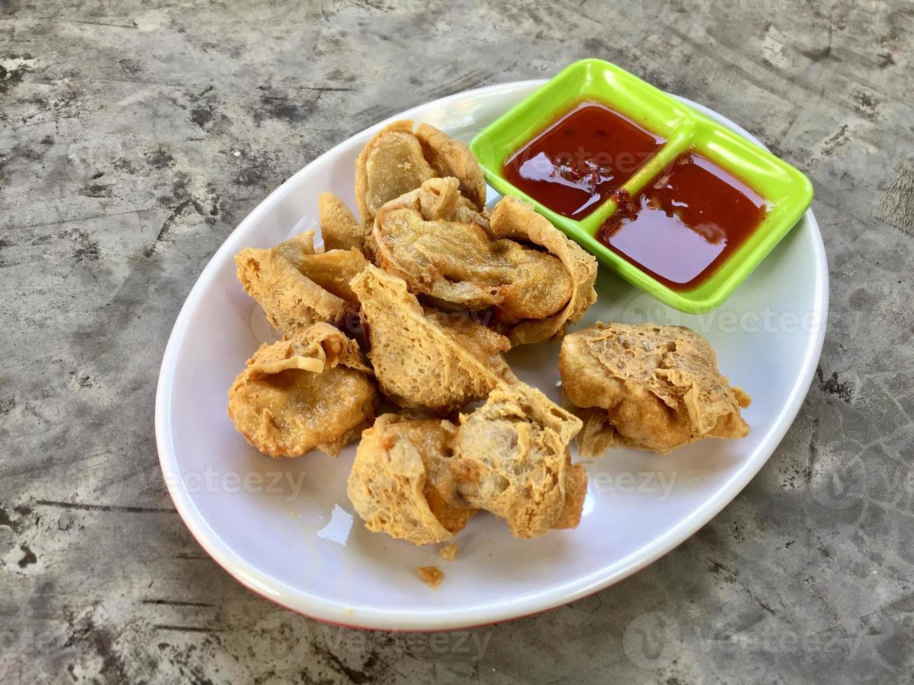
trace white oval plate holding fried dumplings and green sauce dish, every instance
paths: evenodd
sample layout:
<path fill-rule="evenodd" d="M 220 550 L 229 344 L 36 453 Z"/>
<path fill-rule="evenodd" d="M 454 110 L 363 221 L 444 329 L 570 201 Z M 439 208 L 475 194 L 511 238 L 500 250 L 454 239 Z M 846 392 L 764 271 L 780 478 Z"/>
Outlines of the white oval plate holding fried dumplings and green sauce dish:
<path fill-rule="evenodd" d="M 542 81 L 471 90 L 397 117 L 428 121 L 469 141 Z M 712 111 L 699 110 L 742 135 Z M 593 321 L 683 323 L 717 349 L 720 368 L 753 397 L 743 440 L 706 440 L 660 457 L 616 450 L 591 461 L 580 525 L 515 540 L 481 514 L 455 539 L 448 563 L 368 532 L 345 495 L 355 448 L 271 459 L 226 415 L 227 390 L 263 340 L 260 308 L 235 279 L 233 255 L 317 227 L 317 196 L 333 190 L 355 207 L 356 154 L 385 122 L 305 166 L 250 213 L 203 270 L 165 349 L 155 404 L 162 470 L 187 527 L 229 574 L 274 602 L 355 627 L 444 629 L 526 616 L 600 590 L 669 552 L 749 482 L 790 427 L 822 350 L 828 270 L 807 212 L 719 310 L 673 311 L 601 269 Z M 490 189 L 490 201 L 494 198 Z M 509 354 L 515 373 L 559 401 L 558 343 Z M 573 452 L 574 458 L 577 454 Z M 416 574 L 438 564 L 438 590 Z"/>

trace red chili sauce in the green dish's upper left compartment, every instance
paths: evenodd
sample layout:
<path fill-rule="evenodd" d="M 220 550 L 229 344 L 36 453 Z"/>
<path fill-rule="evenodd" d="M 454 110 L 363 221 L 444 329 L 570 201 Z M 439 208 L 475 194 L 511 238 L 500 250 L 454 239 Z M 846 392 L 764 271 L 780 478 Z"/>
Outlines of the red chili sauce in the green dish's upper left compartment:
<path fill-rule="evenodd" d="M 581 102 L 511 155 L 502 175 L 554 212 L 581 219 L 664 142 L 606 105 Z"/>

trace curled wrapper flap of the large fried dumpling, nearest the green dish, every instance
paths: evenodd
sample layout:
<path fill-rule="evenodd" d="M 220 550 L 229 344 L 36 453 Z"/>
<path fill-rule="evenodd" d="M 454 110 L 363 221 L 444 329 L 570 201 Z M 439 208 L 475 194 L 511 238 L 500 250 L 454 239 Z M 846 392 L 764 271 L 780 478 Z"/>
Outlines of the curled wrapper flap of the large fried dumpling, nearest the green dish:
<path fill-rule="evenodd" d="M 570 297 L 564 308 L 543 319 L 519 321 L 507 332 L 512 345 L 541 342 L 562 335 L 569 325 L 580 321 L 584 312 L 597 300 L 593 284 L 597 279 L 597 260 L 578 243 L 540 216 L 533 205 L 518 197 L 503 197 L 492 210 L 492 232 L 495 237 L 523 240 L 542 246 L 558 258 L 571 280 Z M 505 318 L 505 317 L 503 317 Z M 512 322 L 512 321 L 506 321 Z"/>

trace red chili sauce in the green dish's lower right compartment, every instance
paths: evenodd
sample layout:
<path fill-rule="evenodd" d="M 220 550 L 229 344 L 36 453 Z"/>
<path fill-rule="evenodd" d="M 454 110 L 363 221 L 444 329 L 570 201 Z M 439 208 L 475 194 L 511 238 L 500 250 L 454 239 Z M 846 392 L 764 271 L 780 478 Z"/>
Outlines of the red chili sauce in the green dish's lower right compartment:
<path fill-rule="evenodd" d="M 664 285 L 691 290 L 746 242 L 768 209 L 700 154 L 684 153 L 664 171 L 634 197 L 618 193 L 618 208 L 597 237 Z"/>

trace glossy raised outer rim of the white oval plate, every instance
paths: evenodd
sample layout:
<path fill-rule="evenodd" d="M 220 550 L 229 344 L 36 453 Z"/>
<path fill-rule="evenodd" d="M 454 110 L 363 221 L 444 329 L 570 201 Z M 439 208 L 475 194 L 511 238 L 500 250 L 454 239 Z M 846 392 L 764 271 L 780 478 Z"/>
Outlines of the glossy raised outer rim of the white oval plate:
<path fill-rule="evenodd" d="M 520 81 L 509 81 L 506 83 L 494 84 L 483 88 L 473 90 L 463 90 L 458 93 L 430 100 L 421 103 L 407 111 L 399 112 L 384 121 L 379 121 L 373 126 L 369 126 L 361 132 L 347 137 L 344 141 L 337 143 L 311 162 L 305 164 L 299 171 L 292 174 L 284 183 L 275 188 L 270 195 L 267 195 L 260 203 L 255 206 L 248 216 L 239 223 L 231 233 L 223 240 L 222 244 L 208 260 L 206 267 L 200 272 L 193 287 L 188 292 L 184 303 L 175 319 L 175 325 L 169 334 L 168 342 L 165 345 L 162 365 L 159 371 L 158 383 L 155 393 L 155 440 L 156 448 L 159 455 L 159 466 L 165 477 L 165 485 L 172 501 L 175 503 L 175 509 L 182 521 L 185 523 L 187 530 L 194 536 L 197 543 L 209 554 L 210 557 L 221 566 L 226 573 L 237 580 L 241 585 L 245 585 L 251 591 L 270 599 L 275 604 L 283 606 L 289 610 L 303 614 L 304 616 L 314 618 L 324 623 L 330 623 L 336 626 L 363 628 L 373 630 L 402 630 L 402 631 L 427 631 L 427 630 L 453 630 L 458 628 L 478 627 L 491 625 L 503 621 L 513 620 L 516 618 L 527 617 L 547 611 L 558 606 L 564 606 L 570 602 L 582 599 L 586 596 L 593 595 L 600 590 L 622 581 L 624 578 L 637 573 L 645 566 L 653 564 L 657 559 L 671 552 L 681 543 L 688 540 L 695 532 L 711 521 L 717 513 L 733 501 L 739 493 L 749 484 L 749 481 L 755 477 L 760 469 L 767 463 L 768 459 L 780 445 L 781 440 L 792 426 L 793 420 L 800 411 L 802 401 L 812 385 L 815 367 L 819 362 L 824 344 L 825 329 L 828 318 L 828 299 L 829 299 L 829 274 L 828 262 L 824 249 L 822 232 L 818 222 L 813 215 L 813 209 L 810 207 L 803 215 L 810 222 L 813 229 L 813 248 L 818 258 L 816 290 L 813 294 L 813 301 L 816 310 L 820 313 L 821 325 L 817 327 L 813 336 L 810 337 L 803 354 L 801 373 L 797 382 L 793 385 L 791 395 L 781 409 L 781 414 L 775 419 L 775 426 L 771 432 L 763 439 L 758 448 L 750 455 L 749 460 L 733 474 L 717 491 L 712 493 L 696 511 L 681 519 L 679 522 L 665 532 L 659 538 L 656 538 L 646 548 L 643 547 L 629 555 L 637 556 L 631 564 L 625 564 L 626 559 L 623 557 L 612 563 L 616 570 L 606 573 L 606 568 L 595 571 L 582 578 L 577 578 L 564 585 L 552 586 L 542 592 L 530 595 L 523 595 L 507 599 L 503 602 L 488 604 L 481 608 L 480 606 L 468 607 L 465 609 L 434 609 L 428 612 L 409 612 L 395 611 L 389 609 L 377 609 L 375 607 L 359 608 L 357 614 L 357 623 L 351 622 L 356 619 L 356 609 L 352 606 L 345 606 L 332 600 L 326 600 L 320 596 L 310 595 L 300 588 L 293 587 L 277 581 L 266 574 L 262 574 L 258 569 L 252 567 L 243 558 L 241 558 L 228 543 L 225 543 L 207 522 L 206 518 L 197 510 L 190 493 L 180 487 L 182 481 L 171 479 L 168 474 L 180 472 L 175 458 L 174 440 L 171 431 L 171 425 L 168 420 L 171 409 L 171 391 L 173 385 L 173 376 L 178 352 L 182 342 L 186 337 L 186 329 L 190 322 L 190 311 L 196 308 L 197 301 L 201 299 L 203 292 L 207 290 L 207 284 L 213 278 L 217 269 L 217 264 L 222 261 L 224 255 L 228 252 L 237 251 L 234 244 L 238 242 L 239 236 L 244 229 L 250 224 L 255 223 L 260 215 L 267 211 L 279 200 L 280 197 L 291 192 L 291 186 L 296 182 L 299 176 L 305 174 L 314 164 L 320 162 L 324 157 L 332 156 L 337 149 L 351 141 L 356 136 L 368 136 L 373 132 L 379 131 L 390 121 L 397 121 L 403 118 L 410 118 L 417 111 L 426 110 L 431 106 L 446 105 L 452 100 L 461 100 L 467 97 L 479 97 L 484 95 L 507 95 L 516 90 L 535 87 L 545 83 L 547 79 L 527 79 Z M 728 117 L 712 111 L 709 108 L 700 105 L 692 100 L 674 96 L 682 100 L 698 111 L 702 111 L 708 116 L 725 123 L 740 135 L 747 137 L 750 141 L 761 143 L 753 135 L 743 129 L 741 126 Z M 764 454 L 764 457 L 760 455 Z"/>

